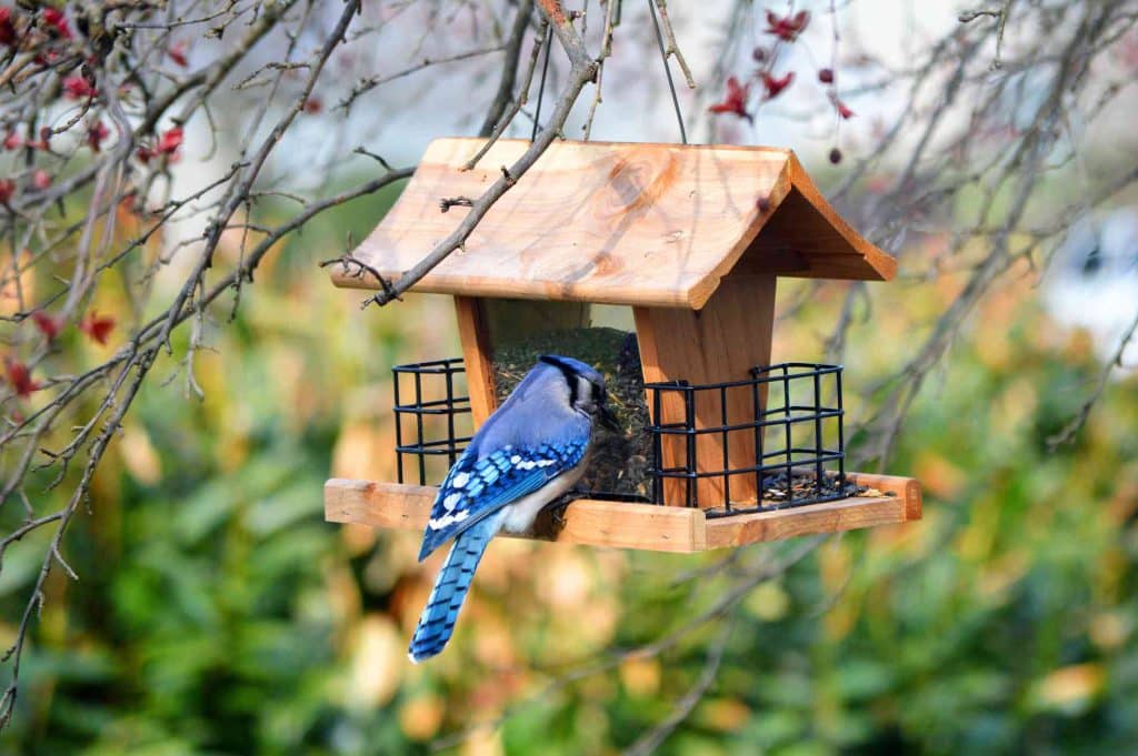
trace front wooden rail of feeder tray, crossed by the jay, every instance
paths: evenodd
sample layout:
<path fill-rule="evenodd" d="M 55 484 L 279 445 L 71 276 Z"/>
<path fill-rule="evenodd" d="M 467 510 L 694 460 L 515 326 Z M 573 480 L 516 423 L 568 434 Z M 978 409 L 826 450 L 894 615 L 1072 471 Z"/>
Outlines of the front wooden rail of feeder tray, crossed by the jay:
<path fill-rule="evenodd" d="M 324 517 L 382 529 L 421 531 L 438 489 L 333 477 L 324 483 Z M 543 513 L 544 514 L 544 513 Z M 583 546 L 688 554 L 706 548 L 703 512 L 649 504 L 578 499 L 562 514 L 538 518 L 537 538 Z"/>

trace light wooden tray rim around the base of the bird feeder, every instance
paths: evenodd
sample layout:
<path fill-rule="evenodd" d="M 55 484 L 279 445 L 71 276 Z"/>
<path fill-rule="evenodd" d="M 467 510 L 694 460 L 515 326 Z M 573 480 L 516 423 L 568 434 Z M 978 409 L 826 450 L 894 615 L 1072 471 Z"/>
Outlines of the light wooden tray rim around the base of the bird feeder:
<path fill-rule="evenodd" d="M 522 538 L 691 554 L 921 518 L 916 480 L 860 473 L 847 477 L 883 496 L 711 518 L 698 508 L 578 499 L 566 507 L 560 523 L 545 512 L 535 532 Z M 422 531 L 436 490 L 333 477 L 324 484 L 324 516 L 329 522 Z"/>

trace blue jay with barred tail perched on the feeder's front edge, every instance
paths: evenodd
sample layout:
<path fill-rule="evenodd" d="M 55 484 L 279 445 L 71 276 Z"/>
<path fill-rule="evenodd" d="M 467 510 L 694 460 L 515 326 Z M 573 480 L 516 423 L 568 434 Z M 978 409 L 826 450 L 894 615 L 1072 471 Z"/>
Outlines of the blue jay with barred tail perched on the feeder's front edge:
<path fill-rule="evenodd" d="M 604 377 L 571 357 L 546 355 L 475 433 L 431 507 L 419 560 L 454 539 L 407 657 L 443 650 L 486 545 L 502 530 L 529 530 L 537 513 L 585 472 L 593 421 L 613 430 Z"/>

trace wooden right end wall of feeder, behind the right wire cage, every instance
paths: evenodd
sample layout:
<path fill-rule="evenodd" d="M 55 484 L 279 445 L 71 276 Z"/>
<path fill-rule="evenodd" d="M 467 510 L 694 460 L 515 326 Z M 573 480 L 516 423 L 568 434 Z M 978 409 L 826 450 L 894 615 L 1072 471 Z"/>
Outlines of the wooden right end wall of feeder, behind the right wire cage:
<path fill-rule="evenodd" d="M 775 276 L 734 275 L 725 279 L 711 299 L 699 311 L 636 307 L 636 334 L 640 339 L 641 364 L 649 383 L 686 380 L 692 384 L 742 381 L 750 377 L 756 365 L 770 364 L 770 335 L 775 316 Z M 678 392 L 661 394 L 660 412 L 665 423 L 684 421 L 684 401 Z M 760 406 L 766 401 L 760 391 Z M 708 429 L 724 425 L 724 402 L 718 391 L 695 393 L 695 426 Z M 649 398 L 649 412 L 654 413 Z M 736 387 L 726 392 L 728 425 L 751 423 L 757 416 L 750 388 Z M 653 418 L 654 419 L 654 418 Z M 724 464 L 721 433 L 695 437 L 695 463 L 699 472 L 745 468 L 754 465 L 754 431 L 732 431 L 727 434 L 727 464 Z M 685 439 L 665 435 L 661 452 L 666 467 L 687 464 Z M 665 504 L 686 504 L 683 480 L 665 481 Z M 732 475 L 728 482 L 731 500 L 754 502 L 753 474 Z M 696 483 L 700 507 L 723 507 L 726 500 L 721 476 L 700 479 Z"/>

